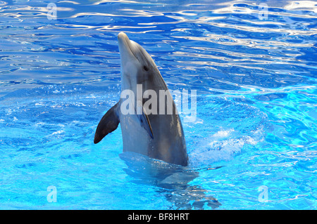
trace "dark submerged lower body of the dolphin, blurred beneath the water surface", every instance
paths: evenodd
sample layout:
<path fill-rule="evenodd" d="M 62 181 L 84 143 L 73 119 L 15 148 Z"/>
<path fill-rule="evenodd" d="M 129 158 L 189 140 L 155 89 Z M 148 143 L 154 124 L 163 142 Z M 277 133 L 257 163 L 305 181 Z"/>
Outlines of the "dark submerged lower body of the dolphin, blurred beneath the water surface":
<path fill-rule="evenodd" d="M 199 185 L 190 184 L 199 176 L 199 171 L 134 152 L 123 152 L 119 156 L 127 164 L 128 168 L 124 170 L 132 177 L 132 181 L 156 187 L 156 192 L 173 204 L 171 209 L 216 209 L 221 205 Z"/>

